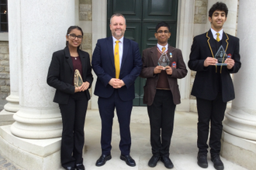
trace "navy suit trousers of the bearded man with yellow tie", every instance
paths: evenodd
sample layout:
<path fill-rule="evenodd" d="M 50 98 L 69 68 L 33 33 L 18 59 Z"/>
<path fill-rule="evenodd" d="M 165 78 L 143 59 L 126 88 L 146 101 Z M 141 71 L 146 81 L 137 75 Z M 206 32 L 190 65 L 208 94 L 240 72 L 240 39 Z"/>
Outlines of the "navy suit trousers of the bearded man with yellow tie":
<path fill-rule="evenodd" d="M 110 155 L 112 139 L 112 122 L 114 110 L 119 121 L 120 142 L 119 149 L 122 155 L 130 155 L 130 114 L 133 108 L 133 100 L 123 101 L 119 97 L 118 90 L 114 90 L 109 98 L 99 97 L 99 114 L 102 119 L 102 155 Z"/>

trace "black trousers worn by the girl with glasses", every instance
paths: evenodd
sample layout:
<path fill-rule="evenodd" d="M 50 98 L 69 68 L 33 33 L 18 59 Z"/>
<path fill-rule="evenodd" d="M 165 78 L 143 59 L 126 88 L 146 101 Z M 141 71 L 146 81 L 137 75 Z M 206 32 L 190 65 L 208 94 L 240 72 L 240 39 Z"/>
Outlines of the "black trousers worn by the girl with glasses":
<path fill-rule="evenodd" d="M 83 92 L 69 97 L 68 104 L 59 104 L 62 116 L 61 165 L 63 167 L 83 163 L 82 149 L 85 143 L 85 114 L 88 99 Z"/>

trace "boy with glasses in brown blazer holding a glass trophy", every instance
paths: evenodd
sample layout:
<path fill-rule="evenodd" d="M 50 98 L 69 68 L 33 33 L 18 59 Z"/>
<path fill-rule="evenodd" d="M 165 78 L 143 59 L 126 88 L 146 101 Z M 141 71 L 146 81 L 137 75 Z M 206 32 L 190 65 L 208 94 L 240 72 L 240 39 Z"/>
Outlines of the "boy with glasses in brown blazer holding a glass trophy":
<path fill-rule="evenodd" d="M 144 49 L 141 77 L 147 78 L 144 86 L 144 104 L 150 118 L 150 143 L 153 156 L 148 165 L 155 167 L 159 159 L 166 168 L 173 168 L 169 158 L 171 135 L 173 131 L 175 107 L 180 104 L 180 93 L 177 79 L 188 73 L 182 57 L 182 51 L 168 45 L 171 36 L 170 26 L 160 22 L 156 26 L 154 36 L 157 46 Z M 169 63 L 167 66 L 158 66 L 158 59 L 166 54 Z M 161 62 L 160 62 L 161 63 Z"/>

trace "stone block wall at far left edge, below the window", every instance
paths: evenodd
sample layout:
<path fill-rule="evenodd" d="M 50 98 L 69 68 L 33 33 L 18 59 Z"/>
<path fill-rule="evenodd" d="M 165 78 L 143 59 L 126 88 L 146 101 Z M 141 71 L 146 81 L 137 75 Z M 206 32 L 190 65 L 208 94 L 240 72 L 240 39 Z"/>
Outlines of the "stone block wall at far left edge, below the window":
<path fill-rule="evenodd" d="M 0 100 L 5 100 L 9 94 L 9 42 L 0 41 Z"/>

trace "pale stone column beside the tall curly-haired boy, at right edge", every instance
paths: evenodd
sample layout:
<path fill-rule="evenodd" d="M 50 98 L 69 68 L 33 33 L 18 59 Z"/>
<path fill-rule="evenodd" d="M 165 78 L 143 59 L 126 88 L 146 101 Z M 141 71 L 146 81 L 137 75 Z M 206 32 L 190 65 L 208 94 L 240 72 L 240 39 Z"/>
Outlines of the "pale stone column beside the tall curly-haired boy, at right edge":
<path fill-rule="evenodd" d="M 248 169 L 255 168 L 256 160 L 256 80 L 254 66 L 256 40 L 251 19 L 256 17 L 254 1 L 240 1 L 237 37 L 240 38 L 241 69 L 234 74 L 236 98 L 223 122 L 222 155 Z"/>

